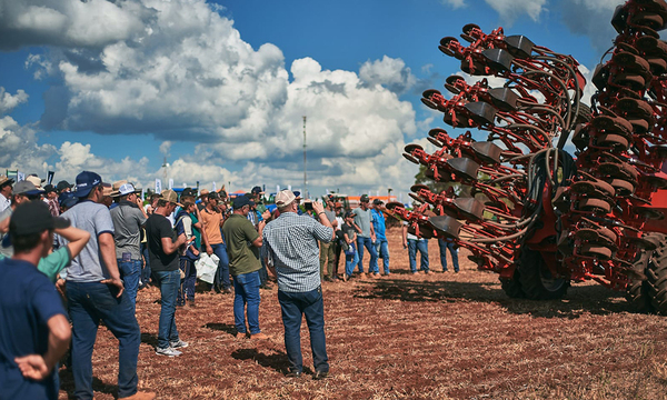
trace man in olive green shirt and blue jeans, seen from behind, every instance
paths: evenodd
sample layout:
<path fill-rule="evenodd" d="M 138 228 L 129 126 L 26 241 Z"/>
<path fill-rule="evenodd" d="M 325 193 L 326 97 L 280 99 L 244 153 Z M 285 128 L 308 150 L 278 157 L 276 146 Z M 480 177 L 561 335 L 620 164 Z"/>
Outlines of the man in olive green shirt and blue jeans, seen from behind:
<path fill-rule="evenodd" d="M 237 338 L 248 336 L 250 330 L 251 339 L 268 339 L 259 329 L 259 249 L 261 248 L 261 233 L 266 226 L 265 220 L 258 224 L 255 230 L 252 222 L 248 220 L 250 207 L 255 206 L 252 200 L 246 196 L 238 196 L 233 200 L 233 213 L 225 221 L 222 234 L 227 242 L 227 254 L 229 256 L 229 271 L 233 277 L 233 320 L 237 328 Z M 247 304 L 248 328 L 246 328 L 245 309 Z"/>

